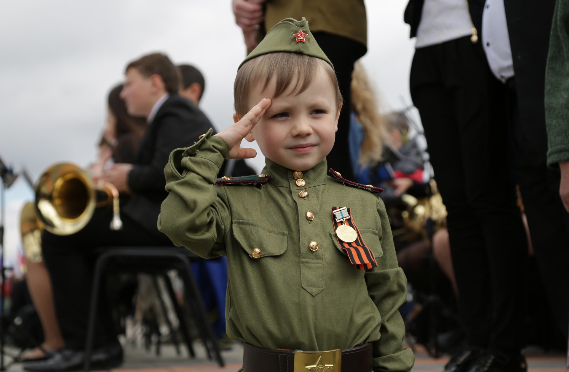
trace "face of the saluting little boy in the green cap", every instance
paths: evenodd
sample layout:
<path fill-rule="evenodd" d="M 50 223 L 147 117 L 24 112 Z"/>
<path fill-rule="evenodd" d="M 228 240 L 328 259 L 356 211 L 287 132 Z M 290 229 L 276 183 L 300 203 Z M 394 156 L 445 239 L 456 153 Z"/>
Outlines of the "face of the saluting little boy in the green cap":
<path fill-rule="evenodd" d="M 259 86 L 251 91 L 249 107 L 263 98 L 271 98 L 271 106 L 247 140 L 257 140 L 263 155 L 275 163 L 288 169 L 307 170 L 332 150 L 341 105 L 336 106 L 335 89 L 322 66 L 308 89 L 291 94 L 293 88 L 291 84 L 282 95 L 273 98 L 274 81 L 264 91 Z"/>

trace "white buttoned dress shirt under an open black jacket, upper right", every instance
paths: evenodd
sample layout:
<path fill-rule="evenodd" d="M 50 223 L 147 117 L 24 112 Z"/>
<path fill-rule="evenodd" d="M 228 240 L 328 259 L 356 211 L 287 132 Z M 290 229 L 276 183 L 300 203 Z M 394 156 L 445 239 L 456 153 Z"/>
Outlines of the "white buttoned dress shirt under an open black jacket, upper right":
<path fill-rule="evenodd" d="M 514 76 L 514 62 L 504 0 L 486 0 L 482 14 L 482 43 L 490 70 L 505 83 Z"/>

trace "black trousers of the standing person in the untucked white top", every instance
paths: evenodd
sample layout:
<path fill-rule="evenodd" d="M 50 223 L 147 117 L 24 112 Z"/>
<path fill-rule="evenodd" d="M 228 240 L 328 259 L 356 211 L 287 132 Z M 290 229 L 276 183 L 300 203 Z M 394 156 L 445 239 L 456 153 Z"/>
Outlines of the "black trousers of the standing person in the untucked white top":
<path fill-rule="evenodd" d="M 471 346 L 525 345 L 527 241 L 508 172 L 505 87 L 469 37 L 419 48 L 410 76 Z"/>

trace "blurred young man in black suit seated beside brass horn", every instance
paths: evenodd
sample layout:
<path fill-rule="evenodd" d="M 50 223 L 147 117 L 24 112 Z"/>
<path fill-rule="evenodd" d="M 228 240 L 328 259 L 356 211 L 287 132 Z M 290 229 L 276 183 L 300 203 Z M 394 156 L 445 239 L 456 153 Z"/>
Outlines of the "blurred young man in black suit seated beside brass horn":
<path fill-rule="evenodd" d="M 112 210 L 98 208 L 81 231 L 58 236 L 44 232 L 43 254 L 50 271 L 57 320 L 65 340 L 60 353 L 42 362 L 30 362 L 30 371 L 65 371 L 81 368 L 84 362 L 95 248 L 100 246 L 170 245 L 156 228 L 160 203 L 166 198 L 164 166 L 170 152 L 191 145 L 211 123 L 187 99 L 180 97 L 178 69 L 163 54 L 153 53 L 126 67 L 121 98 L 129 114 L 147 118 L 134 164 L 114 164 L 100 179 L 112 183 L 130 197 L 121 207 L 122 229 L 111 231 Z M 96 181 L 96 180 L 95 180 Z M 122 362 L 107 304 L 101 303 L 94 335 L 94 368 L 110 368 Z"/>

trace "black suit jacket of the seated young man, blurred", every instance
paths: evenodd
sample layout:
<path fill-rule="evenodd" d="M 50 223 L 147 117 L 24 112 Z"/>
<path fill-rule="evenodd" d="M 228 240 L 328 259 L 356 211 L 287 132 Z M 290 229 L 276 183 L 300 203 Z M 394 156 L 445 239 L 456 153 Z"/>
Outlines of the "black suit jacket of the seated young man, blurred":
<path fill-rule="evenodd" d="M 137 161 L 128 178 L 134 195 L 122 211 L 165 242 L 170 240 L 156 227 L 160 204 L 168 196 L 164 190 L 164 166 L 172 150 L 192 145 L 211 127 L 209 119 L 196 105 L 178 94 L 170 94 L 142 138 Z"/>

